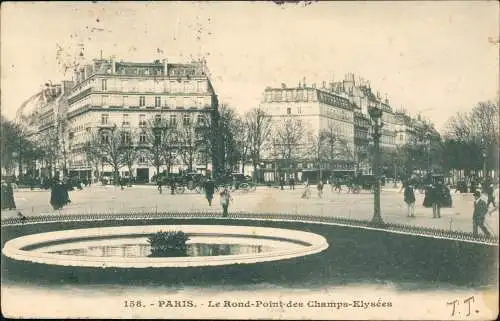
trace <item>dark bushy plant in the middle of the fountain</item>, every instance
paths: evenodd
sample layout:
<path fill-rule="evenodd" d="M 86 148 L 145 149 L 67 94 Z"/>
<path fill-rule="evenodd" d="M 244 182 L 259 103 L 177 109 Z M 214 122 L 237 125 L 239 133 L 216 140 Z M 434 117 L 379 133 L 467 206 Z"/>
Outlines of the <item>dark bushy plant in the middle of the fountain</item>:
<path fill-rule="evenodd" d="M 187 256 L 189 236 L 182 231 L 159 231 L 148 238 L 151 257 Z"/>

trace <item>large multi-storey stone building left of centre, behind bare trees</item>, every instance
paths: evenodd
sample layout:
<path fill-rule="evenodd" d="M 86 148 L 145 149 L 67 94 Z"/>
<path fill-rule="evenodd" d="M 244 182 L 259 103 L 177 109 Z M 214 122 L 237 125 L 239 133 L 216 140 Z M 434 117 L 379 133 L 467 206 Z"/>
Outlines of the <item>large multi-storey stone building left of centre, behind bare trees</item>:
<path fill-rule="evenodd" d="M 85 153 L 91 133 L 118 126 L 130 131 L 133 144 L 144 144 L 145 127 L 151 121 L 167 121 L 182 128 L 210 116 L 218 105 L 202 61 L 177 64 L 97 59 L 76 71 L 74 78 L 67 112 L 70 170 L 80 177 L 95 176 Z M 182 167 L 181 162 L 176 166 Z M 105 175 L 111 171 L 109 166 L 103 167 Z M 155 174 L 143 154 L 133 173 L 121 173 L 139 181 L 150 181 Z"/>

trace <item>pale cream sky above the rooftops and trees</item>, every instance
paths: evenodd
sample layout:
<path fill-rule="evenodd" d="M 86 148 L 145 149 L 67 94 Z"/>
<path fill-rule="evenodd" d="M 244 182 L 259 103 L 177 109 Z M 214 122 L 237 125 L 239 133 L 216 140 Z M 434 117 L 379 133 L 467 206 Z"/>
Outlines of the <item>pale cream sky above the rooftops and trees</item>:
<path fill-rule="evenodd" d="M 1 112 L 63 66 L 205 58 L 219 99 L 243 113 L 266 86 L 367 79 L 393 108 L 438 130 L 499 95 L 499 5 L 460 2 L 7 2 L 1 7 Z M 58 54 L 59 53 L 59 54 Z"/>

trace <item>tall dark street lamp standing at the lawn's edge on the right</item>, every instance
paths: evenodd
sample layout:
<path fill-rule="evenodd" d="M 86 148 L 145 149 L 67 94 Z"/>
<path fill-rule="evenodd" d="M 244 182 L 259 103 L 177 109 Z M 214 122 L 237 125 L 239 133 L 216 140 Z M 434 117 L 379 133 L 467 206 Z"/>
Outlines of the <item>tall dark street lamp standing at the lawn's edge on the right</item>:
<path fill-rule="evenodd" d="M 381 226 L 384 224 L 382 216 L 380 215 L 380 129 L 382 128 L 382 109 L 378 107 L 371 107 L 368 110 L 370 118 L 372 119 L 372 137 L 374 145 L 373 157 L 373 174 L 375 176 L 374 188 L 374 202 L 373 202 L 373 218 L 372 225 Z"/>

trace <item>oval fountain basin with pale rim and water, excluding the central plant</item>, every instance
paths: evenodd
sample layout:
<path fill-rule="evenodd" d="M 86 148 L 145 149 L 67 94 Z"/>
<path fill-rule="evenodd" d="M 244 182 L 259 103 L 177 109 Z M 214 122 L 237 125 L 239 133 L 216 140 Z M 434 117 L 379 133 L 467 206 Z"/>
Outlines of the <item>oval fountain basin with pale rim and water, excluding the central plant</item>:
<path fill-rule="evenodd" d="M 149 257 L 149 235 L 189 235 L 188 256 Z M 32 234 L 8 241 L 2 253 L 34 263 L 102 268 L 199 267 L 291 259 L 328 248 L 318 234 L 268 227 L 144 225 L 100 227 Z"/>

